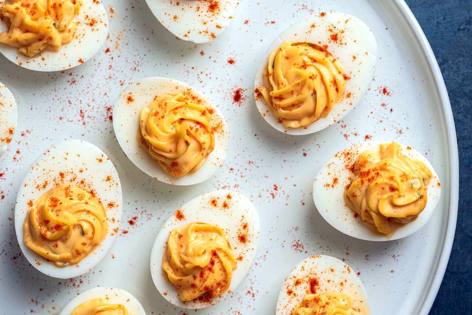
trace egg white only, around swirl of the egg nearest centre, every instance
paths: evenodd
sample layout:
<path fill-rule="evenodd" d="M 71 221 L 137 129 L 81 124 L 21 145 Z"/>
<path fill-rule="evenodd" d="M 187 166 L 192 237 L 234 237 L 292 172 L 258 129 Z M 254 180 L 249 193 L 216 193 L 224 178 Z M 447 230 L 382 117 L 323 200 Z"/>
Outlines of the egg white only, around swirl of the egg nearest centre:
<path fill-rule="evenodd" d="M 178 94 L 188 89 L 202 100 L 202 106 L 214 110 L 211 125 L 219 125 L 219 128 L 214 132 L 215 148 L 202 167 L 193 174 L 176 177 L 167 173 L 140 145 L 137 138 L 139 115 L 144 106 L 152 103 L 155 96 Z M 148 77 L 128 85 L 119 94 L 113 107 L 113 128 L 119 145 L 131 162 L 152 178 L 171 185 L 194 185 L 209 179 L 223 166 L 228 153 L 228 127 L 218 107 L 194 87 L 166 77 Z"/>

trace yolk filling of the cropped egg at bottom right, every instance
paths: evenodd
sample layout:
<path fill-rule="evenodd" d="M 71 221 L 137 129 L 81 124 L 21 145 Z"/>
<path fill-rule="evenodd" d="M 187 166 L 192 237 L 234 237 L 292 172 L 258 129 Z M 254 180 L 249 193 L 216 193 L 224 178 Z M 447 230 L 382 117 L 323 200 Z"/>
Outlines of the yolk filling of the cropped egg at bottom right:
<path fill-rule="evenodd" d="M 351 297 L 337 292 L 307 294 L 292 315 L 362 315 L 353 309 Z"/>

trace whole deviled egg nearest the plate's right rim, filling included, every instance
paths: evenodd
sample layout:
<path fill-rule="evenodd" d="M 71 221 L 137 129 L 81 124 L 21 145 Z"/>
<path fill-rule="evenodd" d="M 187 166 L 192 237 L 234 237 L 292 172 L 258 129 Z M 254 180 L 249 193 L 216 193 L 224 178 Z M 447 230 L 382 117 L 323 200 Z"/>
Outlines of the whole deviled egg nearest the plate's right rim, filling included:
<path fill-rule="evenodd" d="M 404 238 L 420 230 L 440 196 L 431 163 L 396 142 L 351 145 L 336 153 L 313 183 L 316 208 L 329 224 L 372 241 Z"/>

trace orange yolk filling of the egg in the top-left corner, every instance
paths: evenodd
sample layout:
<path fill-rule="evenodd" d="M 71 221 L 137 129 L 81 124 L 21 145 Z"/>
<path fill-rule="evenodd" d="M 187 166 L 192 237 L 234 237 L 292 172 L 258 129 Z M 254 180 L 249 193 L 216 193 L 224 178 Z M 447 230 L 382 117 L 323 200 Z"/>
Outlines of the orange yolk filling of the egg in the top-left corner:
<path fill-rule="evenodd" d="M 0 33 L 0 43 L 18 48 L 25 56 L 41 51 L 59 51 L 76 32 L 74 15 L 82 0 L 5 0 L 1 18 L 8 32 Z"/>

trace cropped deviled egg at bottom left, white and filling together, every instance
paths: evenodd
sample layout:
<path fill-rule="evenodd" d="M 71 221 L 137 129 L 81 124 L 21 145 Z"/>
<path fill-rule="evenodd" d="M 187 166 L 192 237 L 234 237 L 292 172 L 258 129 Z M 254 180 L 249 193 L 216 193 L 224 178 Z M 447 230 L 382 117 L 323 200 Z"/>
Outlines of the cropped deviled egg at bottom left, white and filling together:
<path fill-rule="evenodd" d="M 59 315 L 146 315 L 139 301 L 129 292 L 98 287 L 87 290 L 67 304 Z"/>

